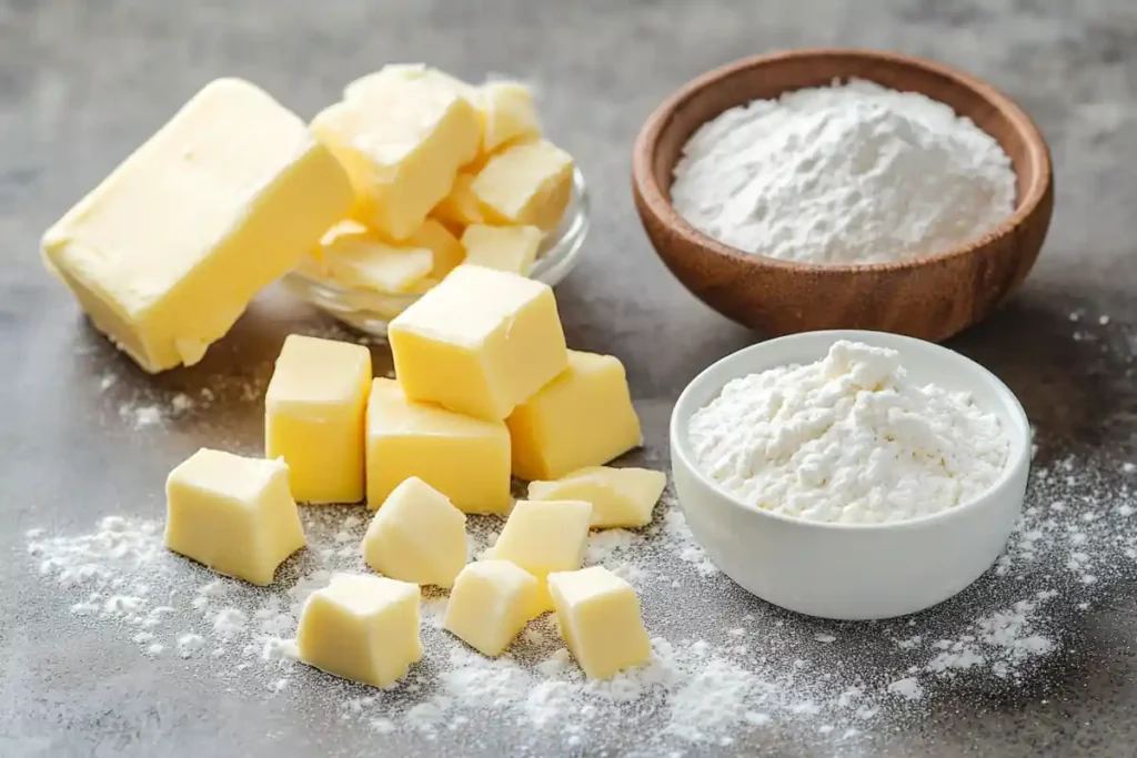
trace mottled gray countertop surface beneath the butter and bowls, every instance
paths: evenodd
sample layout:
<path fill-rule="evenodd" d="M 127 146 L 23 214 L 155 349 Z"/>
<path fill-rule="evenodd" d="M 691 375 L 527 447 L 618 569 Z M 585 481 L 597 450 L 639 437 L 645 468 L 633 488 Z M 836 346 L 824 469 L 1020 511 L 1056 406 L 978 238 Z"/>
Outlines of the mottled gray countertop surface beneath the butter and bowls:
<path fill-rule="evenodd" d="M 256 670 L 239 670 L 239 655 L 146 655 L 132 630 L 76 613 L 81 588 L 40 572 L 42 555 L 28 552 L 36 540 L 90 534 L 108 515 L 160 518 L 166 473 L 198 447 L 256 451 L 257 394 L 289 332 L 352 339 L 269 291 L 200 366 L 149 377 L 93 332 L 43 272 L 42 231 L 206 81 L 248 77 L 304 116 L 388 61 L 536 82 L 548 131 L 578 158 L 595 201 L 586 256 L 557 289 L 567 338 L 623 359 L 647 436 L 633 459 L 663 466 L 679 391 L 758 338 L 695 301 L 655 258 L 632 209 L 631 143 L 650 109 L 691 76 L 802 45 L 899 49 L 989 78 L 1038 120 L 1057 177 L 1052 232 L 1026 286 L 951 342 L 999 375 L 1037 428 L 1036 468 L 1047 476 L 1036 477 L 1028 507 L 1040 514 L 1032 523 L 1048 535 L 1037 538 L 1043 547 L 1016 535 L 1003 575 L 993 572 L 913 619 L 910 628 L 929 639 L 904 647 L 904 620 L 825 625 L 778 611 L 722 575 L 704 576 L 656 527 L 663 547 L 649 553 L 658 569 L 644 592 L 653 633 L 721 647 L 733 625 L 745 625 L 739 633 L 756 649 L 773 645 L 757 675 L 795 660 L 808 669 L 783 688 L 783 700 L 798 690 L 828 697 L 838 690 L 825 683 L 841 677 L 861 682 L 879 714 L 855 734 L 847 715 L 830 723 L 773 708 L 770 720 L 739 718 L 690 741 L 667 735 L 677 716 L 666 699 L 612 707 L 625 717 L 565 710 L 558 719 L 579 724 L 575 732 L 537 728 L 488 707 L 463 711 L 467 720 L 450 718 L 454 728 L 439 733 L 398 725 L 388 733 L 350 717 L 345 698 L 365 693 L 329 677 L 289 674 L 275 692 L 266 686 L 275 674 L 259 660 Z M 1129 536 L 1137 530 L 1126 526 L 1137 475 L 1123 467 L 1137 461 L 1135 164 L 1130 0 L 3 0 L 0 755 L 1137 755 L 1137 551 Z M 382 347 L 374 355 L 380 368 L 389 365 Z M 192 407 L 179 411 L 173 398 L 181 392 Z M 160 418 L 147 424 L 151 406 Z M 1067 510 L 1047 525 L 1059 499 Z M 1068 543 L 1074 533 L 1088 536 Z M 174 573 L 159 572 L 155 584 L 190 581 L 176 572 L 209 581 L 188 565 L 159 565 Z M 913 644 L 924 650 L 913 659 L 923 666 L 936 639 L 958 640 L 973 619 L 1037 592 L 1047 593 L 1045 613 L 1029 614 L 1029 631 L 1045 649 L 1012 656 L 1007 676 L 990 666 L 956 675 L 920 668 L 922 699 L 888 697 Z M 798 644 L 830 632 L 836 641 L 820 648 Z M 392 713 L 415 697 L 390 695 Z"/>

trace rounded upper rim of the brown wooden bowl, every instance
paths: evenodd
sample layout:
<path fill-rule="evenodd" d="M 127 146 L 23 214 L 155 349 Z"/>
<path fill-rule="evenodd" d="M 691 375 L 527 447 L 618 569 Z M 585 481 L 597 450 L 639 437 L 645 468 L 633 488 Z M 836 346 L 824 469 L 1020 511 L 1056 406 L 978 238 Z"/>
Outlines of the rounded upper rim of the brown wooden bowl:
<path fill-rule="evenodd" d="M 746 252 L 733 245 L 700 232 L 687 222 L 675 207 L 671 205 L 670 193 L 664 193 L 652 170 L 654 157 L 659 147 L 659 136 L 671 122 L 673 114 L 696 93 L 717 86 L 731 75 L 748 68 L 758 68 L 785 60 L 802 58 L 864 58 L 898 68 L 919 68 L 931 74 L 948 78 L 956 85 L 971 90 L 974 94 L 990 103 L 1013 125 L 1022 136 L 1028 148 L 1030 163 L 1036 166 L 1034 181 L 1027 186 L 1022 198 L 1015 203 L 1014 213 L 986 234 L 969 240 L 941 252 L 921 256 L 910 260 L 866 263 L 866 264 L 814 264 L 796 260 L 785 260 L 760 252 Z M 785 90 L 789 92 L 790 90 Z M 928 95 L 931 97 L 931 95 Z M 932 98 L 935 100 L 935 98 Z M 956 115 L 960 115 L 956 113 Z M 1002 145 L 999 145 L 1002 148 Z M 674 167 L 672 167 L 674 169 Z M 981 251 L 1001 238 L 1009 236 L 1026 223 L 1038 209 L 1053 182 L 1051 152 L 1041 131 L 1027 113 L 1009 95 L 993 84 L 979 77 L 966 74 L 957 68 L 935 60 L 908 56 L 901 52 L 871 50 L 862 48 L 803 48 L 778 52 L 750 56 L 702 74 L 682 85 L 671 97 L 664 100 L 648 116 L 632 148 L 632 183 L 646 206 L 646 209 L 657 222 L 669 231 L 681 236 L 688 244 L 711 250 L 720 256 L 731 258 L 742 264 L 757 267 L 780 268 L 787 272 L 810 274 L 849 274 L 849 273 L 885 273 L 919 268 L 945 261 L 951 258 L 964 257 Z M 1015 172 L 1018 175 L 1018 172 Z"/>

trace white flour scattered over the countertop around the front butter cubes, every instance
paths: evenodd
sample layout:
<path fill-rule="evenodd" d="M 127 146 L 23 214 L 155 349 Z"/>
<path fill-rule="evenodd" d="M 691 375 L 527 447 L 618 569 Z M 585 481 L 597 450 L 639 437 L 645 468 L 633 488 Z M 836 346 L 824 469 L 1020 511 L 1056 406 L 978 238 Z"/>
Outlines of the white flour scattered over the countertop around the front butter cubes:
<path fill-rule="evenodd" d="M 1127 481 L 1117 461 L 1071 458 L 1038 469 L 994 570 L 955 601 L 875 624 L 819 622 L 737 590 L 694 543 L 669 491 L 648 527 L 590 540 L 587 563 L 632 574 L 656 635 L 649 665 L 607 682 L 582 676 L 551 616 L 533 622 L 508 656 L 478 655 L 440 628 L 446 597 L 433 589 L 422 606 L 424 664 L 398 688 L 362 689 L 298 664 L 293 636 L 306 598 L 335 570 L 364 570 L 357 551 L 339 551 L 363 538 L 370 514 L 359 507 L 305 508 L 309 549 L 267 590 L 168 553 L 156 522 L 111 516 L 93 534 L 32 530 L 26 543 L 74 624 L 119 634 L 158 661 L 185 658 L 229 680 L 219 686 L 249 682 L 307 708 L 326 706 L 377 734 L 476 740 L 490 720 L 524 726 L 532 755 L 565 744 L 611 751 L 620 733 L 638 736 L 617 752 L 646 756 L 691 744 L 742 751 L 748 734 L 777 730 L 796 735 L 804 752 L 858 745 L 854 752 L 871 755 L 877 735 L 922 718 L 941 698 L 1019 697 L 1043 664 L 1081 643 L 1064 619 L 1137 578 Z M 481 551 L 501 519 L 474 516 L 468 526 Z M 659 600 L 669 594 L 674 601 Z"/>

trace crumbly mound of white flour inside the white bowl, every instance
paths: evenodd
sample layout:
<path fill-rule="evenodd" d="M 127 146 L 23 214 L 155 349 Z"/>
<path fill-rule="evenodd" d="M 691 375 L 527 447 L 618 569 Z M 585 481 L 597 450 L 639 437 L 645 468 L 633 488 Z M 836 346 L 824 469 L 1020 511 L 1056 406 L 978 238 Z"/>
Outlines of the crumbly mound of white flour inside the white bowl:
<path fill-rule="evenodd" d="M 903 522 L 981 494 L 1010 445 L 970 395 L 912 382 L 895 350 L 735 380 L 690 419 L 698 466 L 755 508 L 843 524 Z"/>

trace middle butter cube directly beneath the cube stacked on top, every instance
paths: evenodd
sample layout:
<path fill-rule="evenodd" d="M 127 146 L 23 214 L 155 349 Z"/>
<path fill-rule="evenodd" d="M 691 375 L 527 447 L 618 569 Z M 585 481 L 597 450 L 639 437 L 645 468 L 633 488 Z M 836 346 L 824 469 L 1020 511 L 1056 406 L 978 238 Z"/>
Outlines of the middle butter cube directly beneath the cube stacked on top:
<path fill-rule="evenodd" d="M 376 378 L 367 403 L 367 503 L 379 508 L 410 476 L 464 513 L 506 513 L 509 432 L 501 422 L 407 400 L 397 382 Z"/>

